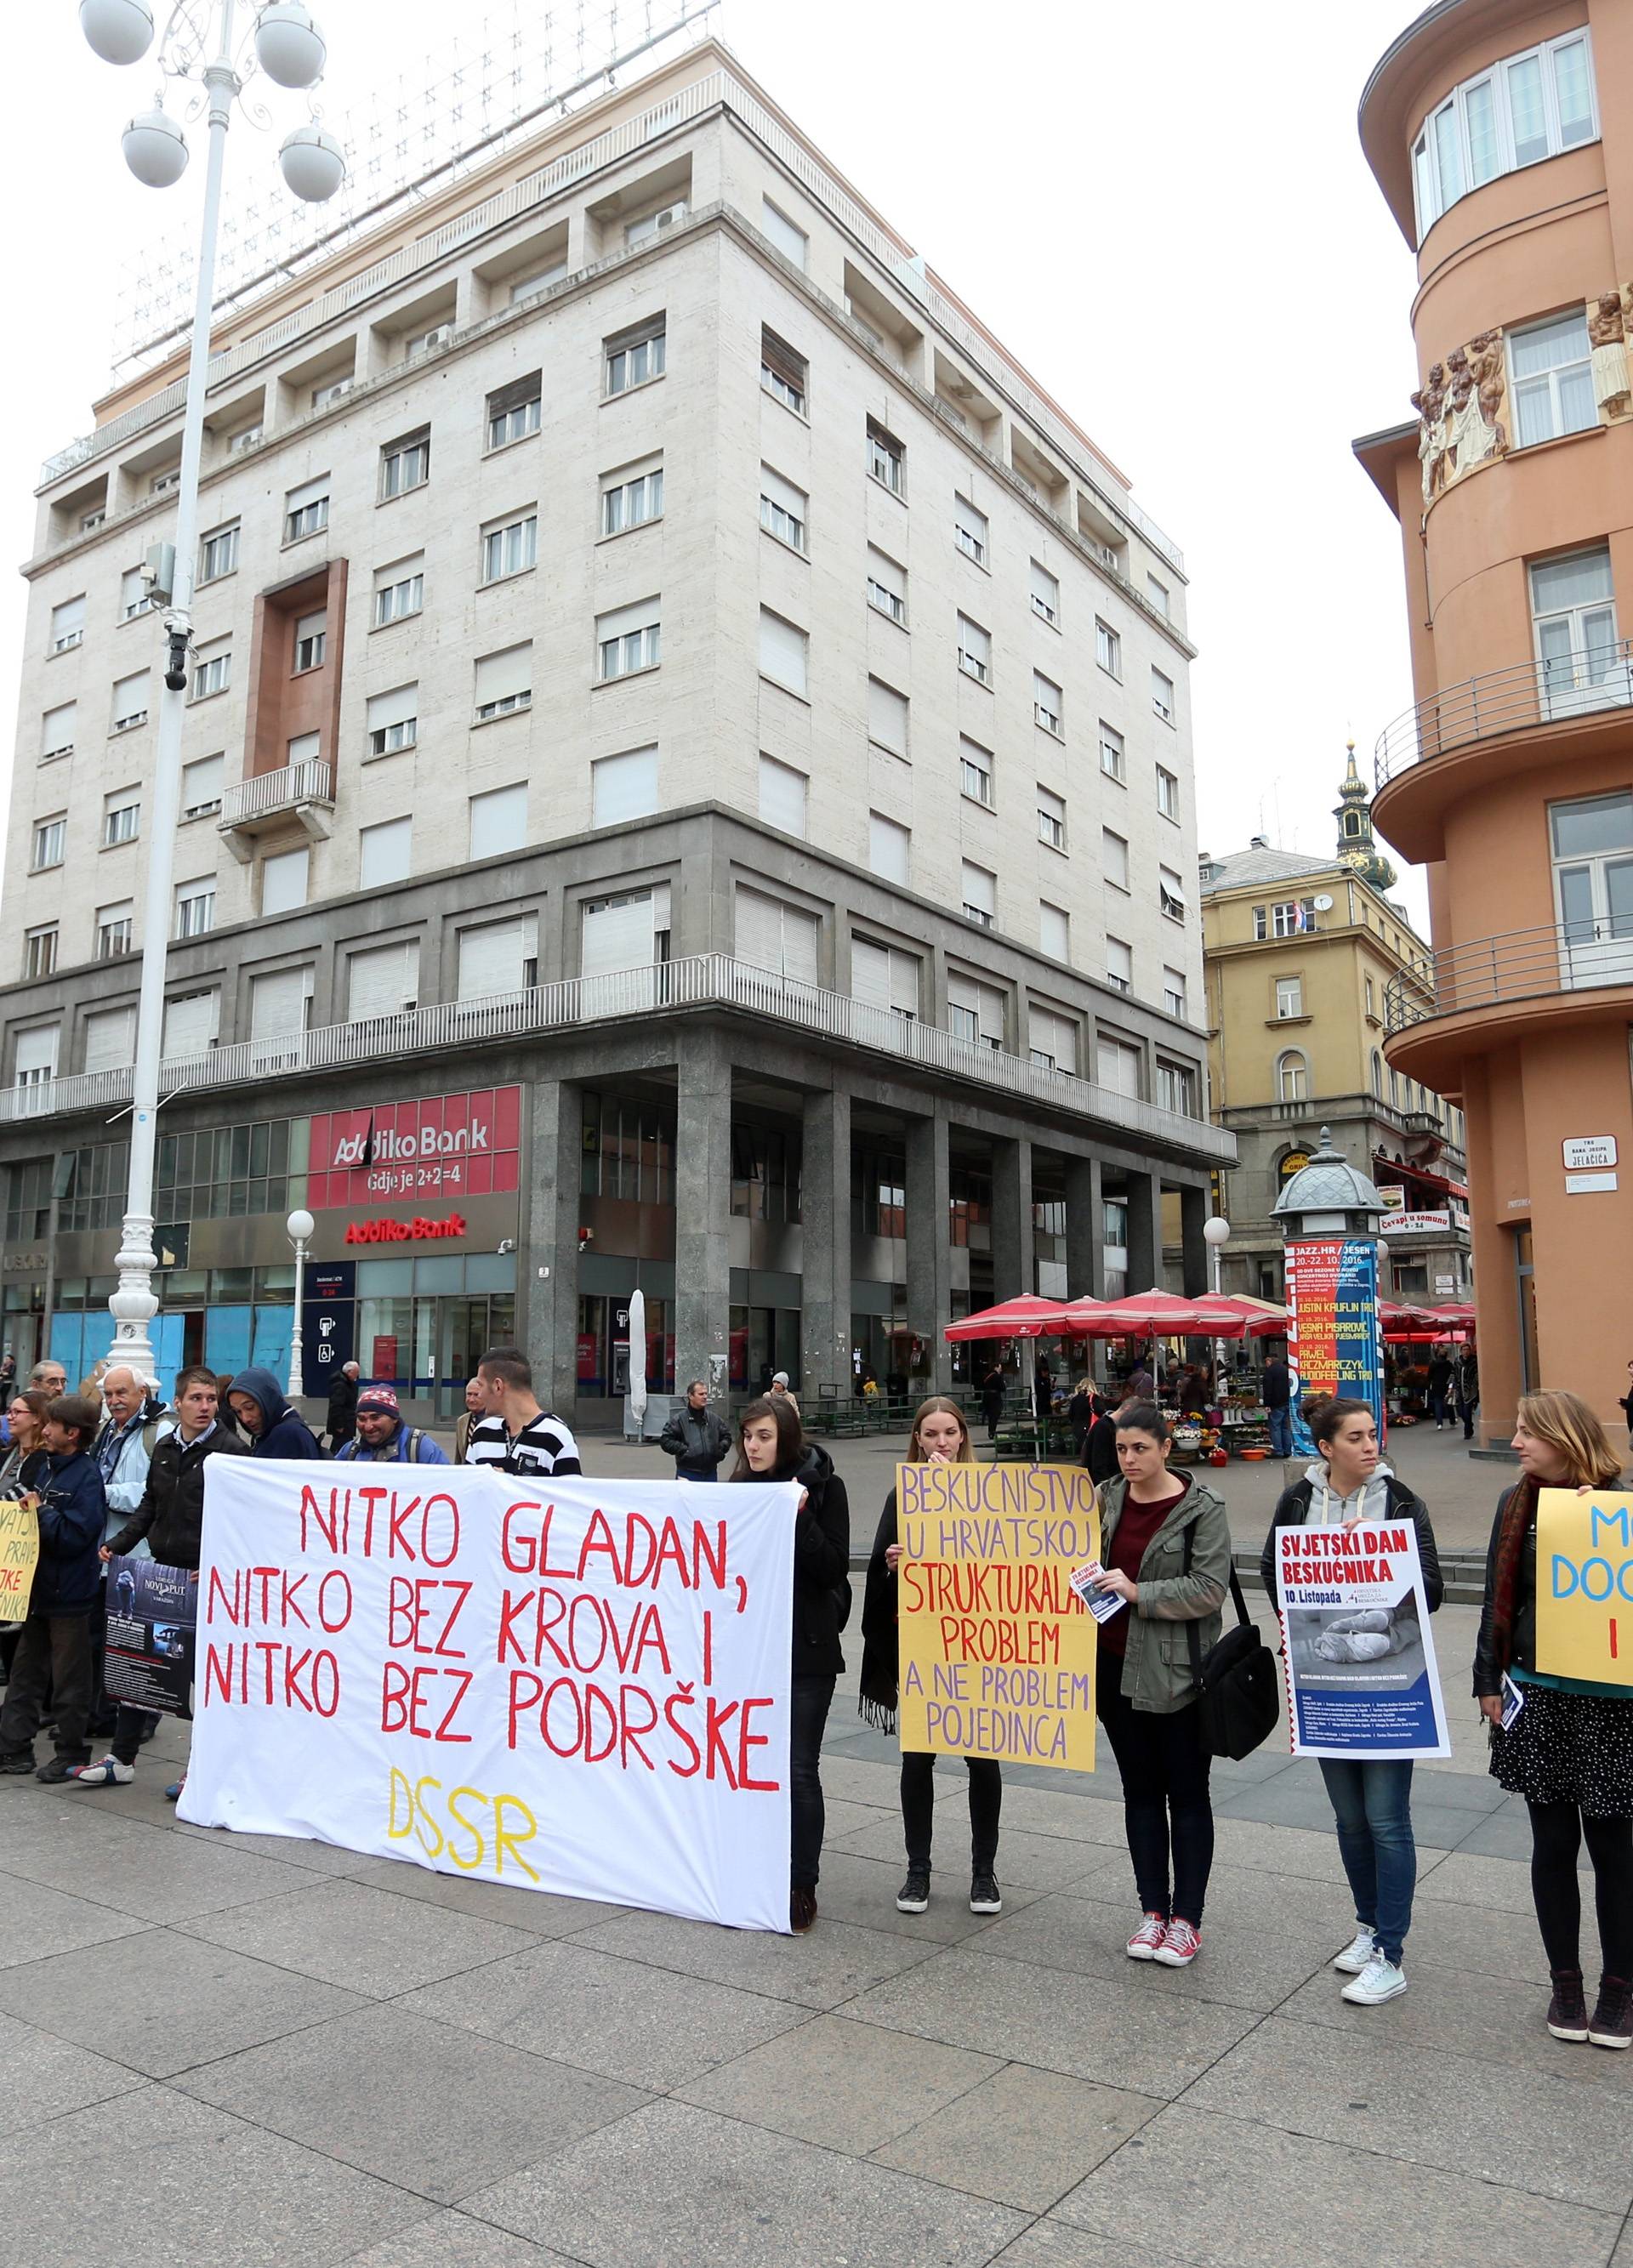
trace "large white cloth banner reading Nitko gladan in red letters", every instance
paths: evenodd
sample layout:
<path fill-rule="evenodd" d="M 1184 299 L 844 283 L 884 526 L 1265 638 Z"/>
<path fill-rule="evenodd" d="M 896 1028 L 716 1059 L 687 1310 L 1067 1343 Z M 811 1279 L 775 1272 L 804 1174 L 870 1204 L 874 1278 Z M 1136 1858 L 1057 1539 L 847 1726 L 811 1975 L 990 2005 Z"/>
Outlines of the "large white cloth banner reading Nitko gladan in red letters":
<path fill-rule="evenodd" d="M 211 1458 L 179 1817 L 787 1930 L 794 1508 Z"/>

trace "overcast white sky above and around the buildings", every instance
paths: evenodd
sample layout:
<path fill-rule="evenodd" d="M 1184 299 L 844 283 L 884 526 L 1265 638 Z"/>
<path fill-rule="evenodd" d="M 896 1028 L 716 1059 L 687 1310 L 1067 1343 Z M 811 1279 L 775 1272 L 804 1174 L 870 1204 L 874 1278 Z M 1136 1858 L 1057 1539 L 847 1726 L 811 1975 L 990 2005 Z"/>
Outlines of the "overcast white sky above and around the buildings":
<path fill-rule="evenodd" d="M 16 5 L 16 0 L 14 0 Z M 161 14 L 168 0 L 161 0 Z M 433 52 L 481 0 L 315 0 L 336 113 L 381 54 Z M 565 11 L 558 9 L 558 16 Z M 1356 98 L 1415 0 L 724 0 L 721 36 L 1077 417 L 1184 547 L 1202 846 L 1325 853 L 1349 733 L 1411 701 L 1399 533 L 1349 454 L 1411 415 L 1411 254 Z M 816 36 L 812 34 L 819 23 Z M 14 354 L 0 526 L 32 549 L 41 460 L 91 424 L 143 231 L 197 234 L 202 129 L 177 191 L 125 172 L 147 66 L 116 73 L 73 0 L 32 0 L 11 104 Z M 397 61 L 392 61 L 392 70 Z M 299 98 L 277 100 L 279 127 Z M 243 156 L 254 136 L 234 129 Z M 261 143 L 270 168 L 274 141 Z M 0 585 L 14 710 L 25 587 Z M 1422 878 L 1404 896 L 1422 919 Z"/>

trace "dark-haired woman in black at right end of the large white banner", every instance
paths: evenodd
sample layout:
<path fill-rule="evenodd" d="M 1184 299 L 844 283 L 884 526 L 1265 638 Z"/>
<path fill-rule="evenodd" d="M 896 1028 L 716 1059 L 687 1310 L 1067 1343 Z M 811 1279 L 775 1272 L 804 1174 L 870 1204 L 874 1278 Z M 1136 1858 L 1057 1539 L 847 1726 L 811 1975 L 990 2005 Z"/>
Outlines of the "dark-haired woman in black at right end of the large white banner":
<path fill-rule="evenodd" d="M 751 1402 L 737 1417 L 733 1481 L 798 1481 L 794 1513 L 794 1678 L 789 1685 L 789 1928 L 816 1919 L 823 1794 L 821 1737 L 835 1678 L 844 1672 L 839 1631 L 851 1613 L 851 1504 L 832 1458 L 801 1431 L 787 1395 Z"/>

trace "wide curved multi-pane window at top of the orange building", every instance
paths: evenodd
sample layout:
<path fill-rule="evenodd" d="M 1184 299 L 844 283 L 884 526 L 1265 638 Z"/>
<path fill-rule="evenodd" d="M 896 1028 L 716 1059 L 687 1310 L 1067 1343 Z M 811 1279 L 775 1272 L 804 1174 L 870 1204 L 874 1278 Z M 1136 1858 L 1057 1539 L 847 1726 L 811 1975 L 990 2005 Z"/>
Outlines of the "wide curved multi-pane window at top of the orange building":
<path fill-rule="evenodd" d="M 1465 79 L 1424 118 L 1413 143 L 1418 243 L 1472 188 L 1597 138 L 1585 29 Z"/>

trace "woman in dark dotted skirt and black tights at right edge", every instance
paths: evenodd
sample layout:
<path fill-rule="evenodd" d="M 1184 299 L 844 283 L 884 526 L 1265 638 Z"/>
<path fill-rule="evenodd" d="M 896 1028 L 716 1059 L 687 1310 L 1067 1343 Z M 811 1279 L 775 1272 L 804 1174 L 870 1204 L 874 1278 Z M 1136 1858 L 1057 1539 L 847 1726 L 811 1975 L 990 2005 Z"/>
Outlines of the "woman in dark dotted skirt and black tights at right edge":
<path fill-rule="evenodd" d="M 1524 1395 L 1513 1436 L 1520 1479 L 1497 1506 L 1474 1694 L 1490 1769 L 1531 1812 L 1531 1898 L 1554 1975 L 1547 2028 L 1597 2048 L 1633 2043 L 1633 1687 L 1535 1667 L 1538 1495 L 1613 1488 L 1622 1458 L 1581 1395 Z M 1599 2000 L 1581 1973 L 1576 1851 L 1588 1839 L 1599 1910 Z"/>

